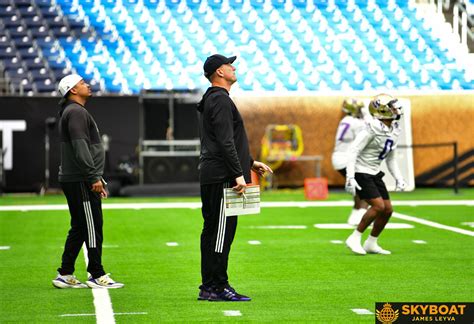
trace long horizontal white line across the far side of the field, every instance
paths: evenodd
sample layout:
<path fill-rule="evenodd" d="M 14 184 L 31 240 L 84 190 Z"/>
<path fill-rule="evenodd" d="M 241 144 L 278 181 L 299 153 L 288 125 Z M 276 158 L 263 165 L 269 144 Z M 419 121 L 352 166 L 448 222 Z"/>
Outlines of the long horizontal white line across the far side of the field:
<path fill-rule="evenodd" d="M 281 207 L 346 207 L 354 202 L 342 201 L 274 201 L 262 202 L 264 208 Z M 392 201 L 393 206 L 474 206 L 474 200 L 398 200 Z M 163 202 L 163 203 L 104 203 L 103 209 L 198 209 L 200 202 Z M 0 206 L 2 211 L 44 211 L 69 210 L 67 205 L 10 205 Z"/>

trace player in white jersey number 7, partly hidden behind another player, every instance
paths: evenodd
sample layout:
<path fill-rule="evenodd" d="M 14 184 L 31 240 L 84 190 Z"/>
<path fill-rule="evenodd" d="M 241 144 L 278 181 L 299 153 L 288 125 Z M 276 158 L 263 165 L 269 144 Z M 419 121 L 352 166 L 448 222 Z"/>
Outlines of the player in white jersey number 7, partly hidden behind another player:
<path fill-rule="evenodd" d="M 337 128 L 332 165 L 344 178 L 346 177 L 348 151 L 351 143 L 356 135 L 365 128 L 364 120 L 366 118 L 363 118 L 363 113 L 365 113 L 363 108 L 364 103 L 354 98 L 346 99 L 342 103 L 342 111 L 345 116 L 341 119 Z M 365 114 L 370 116 L 368 112 Z M 357 226 L 367 211 L 367 206 L 368 204 L 356 194 L 354 196 L 354 206 L 347 223 Z"/>

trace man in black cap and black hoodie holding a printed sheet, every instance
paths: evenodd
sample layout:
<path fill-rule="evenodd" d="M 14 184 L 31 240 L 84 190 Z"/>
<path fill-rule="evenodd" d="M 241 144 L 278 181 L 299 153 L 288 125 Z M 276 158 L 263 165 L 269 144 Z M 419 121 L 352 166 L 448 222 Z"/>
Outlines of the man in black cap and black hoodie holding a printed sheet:
<path fill-rule="evenodd" d="M 198 104 L 201 156 L 199 179 L 204 226 L 201 233 L 201 276 L 199 300 L 249 301 L 238 294 L 227 276 L 230 246 L 237 228 L 237 216 L 226 217 L 224 188 L 244 193 L 251 182 L 250 170 L 260 175 L 272 172 L 250 155 L 244 122 L 229 97 L 237 81 L 232 63 L 236 57 L 215 54 L 206 59 L 204 75 L 212 86 Z"/>

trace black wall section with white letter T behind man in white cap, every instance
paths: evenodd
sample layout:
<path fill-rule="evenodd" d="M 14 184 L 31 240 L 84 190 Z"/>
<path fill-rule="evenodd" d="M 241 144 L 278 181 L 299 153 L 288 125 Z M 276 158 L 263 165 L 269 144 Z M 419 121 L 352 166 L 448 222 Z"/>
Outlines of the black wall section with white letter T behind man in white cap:
<path fill-rule="evenodd" d="M 23 120 L 25 131 L 13 132 L 13 168 L 5 171 L 7 192 L 39 191 L 45 179 L 45 120 L 59 117 L 58 98 L 0 97 L 0 132 L 7 120 Z M 96 97 L 87 109 L 101 134 L 110 137 L 108 164 L 117 165 L 124 155 L 134 155 L 138 144 L 138 97 Z M 59 136 L 57 125 L 50 130 L 50 188 L 59 187 Z M 0 145 L 3 136 L 0 137 Z"/>

